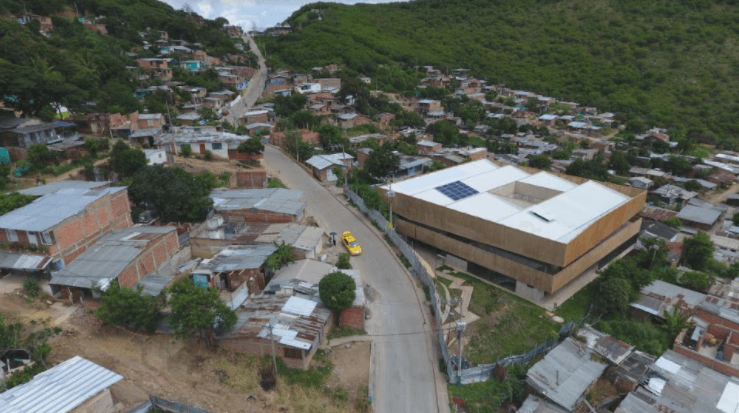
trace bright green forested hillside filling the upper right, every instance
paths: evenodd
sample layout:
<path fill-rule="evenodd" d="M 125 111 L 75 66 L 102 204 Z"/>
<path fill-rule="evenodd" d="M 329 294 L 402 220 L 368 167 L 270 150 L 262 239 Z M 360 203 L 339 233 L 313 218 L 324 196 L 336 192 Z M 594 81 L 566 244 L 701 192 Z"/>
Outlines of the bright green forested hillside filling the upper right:
<path fill-rule="evenodd" d="M 419 0 L 311 4 L 267 39 L 275 64 L 344 64 L 373 76 L 416 65 L 617 112 L 629 130 L 667 127 L 739 149 L 736 0 Z M 311 10 L 321 9 L 319 13 Z M 373 81 L 374 83 L 374 81 Z M 383 76 L 380 89 L 402 82 Z M 396 85 L 393 85 L 396 83 Z M 408 86 L 407 92 L 412 91 Z"/>

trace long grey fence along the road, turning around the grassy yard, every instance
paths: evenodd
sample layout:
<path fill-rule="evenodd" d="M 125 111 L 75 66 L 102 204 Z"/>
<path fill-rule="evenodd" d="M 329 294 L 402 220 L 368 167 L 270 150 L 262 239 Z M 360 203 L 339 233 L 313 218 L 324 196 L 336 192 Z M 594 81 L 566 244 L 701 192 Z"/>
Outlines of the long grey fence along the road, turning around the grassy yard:
<path fill-rule="evenodd" d="M 509 366 L 512 364 L 529 363 L 537 356 L 544 354 L 554 348 L 559 341 L 557 339 L 550 339 L 533 350 L 520 355 L 506 357 L 494 364 L 481 364 L 475 367 L 463 368 L 461 372 L 457 370 L 457 357 L 451 354 L 449 346 L 446 343 L 446 337 L 444 335 L 443 322 L 443 311 L 441 309 L 441 301 L 439 294 L 436 291 L 436 284 L 434 278 L 428 274 L 426 269 L 421 265 L 418 260 L 416 252 L 398 235 L 394 229 L 389 228 L 389 222 L 379 211 L 375 209 L 369 209 L 365 205 L 362 198 L 354 193 L 352 190 L 347 189 L 346 195 L 349 200 L 354 203 L 360 211 L 367 215 L 380 229 L 387 235 L 390 240 L 398 247 L 403 256 L 411 264 L 411 273 L 421 280 L 421 283 L 428 288 L 429 296 L 431 297 L 431 308 L 433 309 L 434 319 L 436 320 L 436 330 L 439 333 L 439 345 L 441 347 L 441 355 L 444 358 L 446 364 L 446 370 L 448 372 L 449 381 L 451 383 L 469 384 L 474 382 L 486 381 L 490 376 L 493 375 L 497 365 Z M 564 334 L 570 333 L 575 328 L 573 322 L 569 322 L 562 326 L 559 331 L 560 337 Z M 450 330 L 450 332 L 453 330 Z M 465 363 L 462 363 L 464 366 Z"/>

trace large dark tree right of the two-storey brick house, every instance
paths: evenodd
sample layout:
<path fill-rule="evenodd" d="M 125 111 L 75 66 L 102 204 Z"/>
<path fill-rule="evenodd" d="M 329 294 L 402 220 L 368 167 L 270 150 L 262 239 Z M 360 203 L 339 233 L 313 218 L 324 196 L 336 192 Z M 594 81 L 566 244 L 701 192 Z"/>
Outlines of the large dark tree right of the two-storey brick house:
<path fill-rule="evenodd" d="M 200 222 L 213 205 L 212 180 L 205 178 L 180 168 L 146 166 L 133 176 L 128 193 L 136 204 L 154 206 L 163 222 Z"/>

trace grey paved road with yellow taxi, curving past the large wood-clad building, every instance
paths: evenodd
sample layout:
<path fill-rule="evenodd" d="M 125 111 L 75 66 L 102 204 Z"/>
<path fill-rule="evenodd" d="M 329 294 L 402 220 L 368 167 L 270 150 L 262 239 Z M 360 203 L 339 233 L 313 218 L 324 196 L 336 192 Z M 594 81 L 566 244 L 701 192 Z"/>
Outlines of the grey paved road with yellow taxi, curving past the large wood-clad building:
<path fill-rule="evenodd" d="M 423 292 L 376 232 L 291 158 L 268 146 L 264 160 L 289 188 L 305 193 L 308 214 L 322 227 L 328 232 L 352 231 L 362 246 L 363 254 L 352 258 L 352 265 L 377 291 L 369 303 L 372 318 L 366 323 L 368 334 L 375 336 L 375 412 L 449 412 L 434 356 L 433 324 L 426 323 L 422 312 Z"/>

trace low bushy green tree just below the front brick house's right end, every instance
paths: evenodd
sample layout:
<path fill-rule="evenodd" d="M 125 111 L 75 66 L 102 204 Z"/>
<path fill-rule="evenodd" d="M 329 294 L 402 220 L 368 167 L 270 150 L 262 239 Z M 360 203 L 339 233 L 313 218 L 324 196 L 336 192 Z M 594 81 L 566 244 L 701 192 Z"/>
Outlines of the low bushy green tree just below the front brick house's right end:
<path fill-rule="evenodd" d="M 164 300 L 143 294 L 144 288 L 136 289 L 120 286 L 113 282 L 100 298 L 97 316 L 109 324 L 145 330 L 153 333 L 157 322 L 162 318 Z"/>

